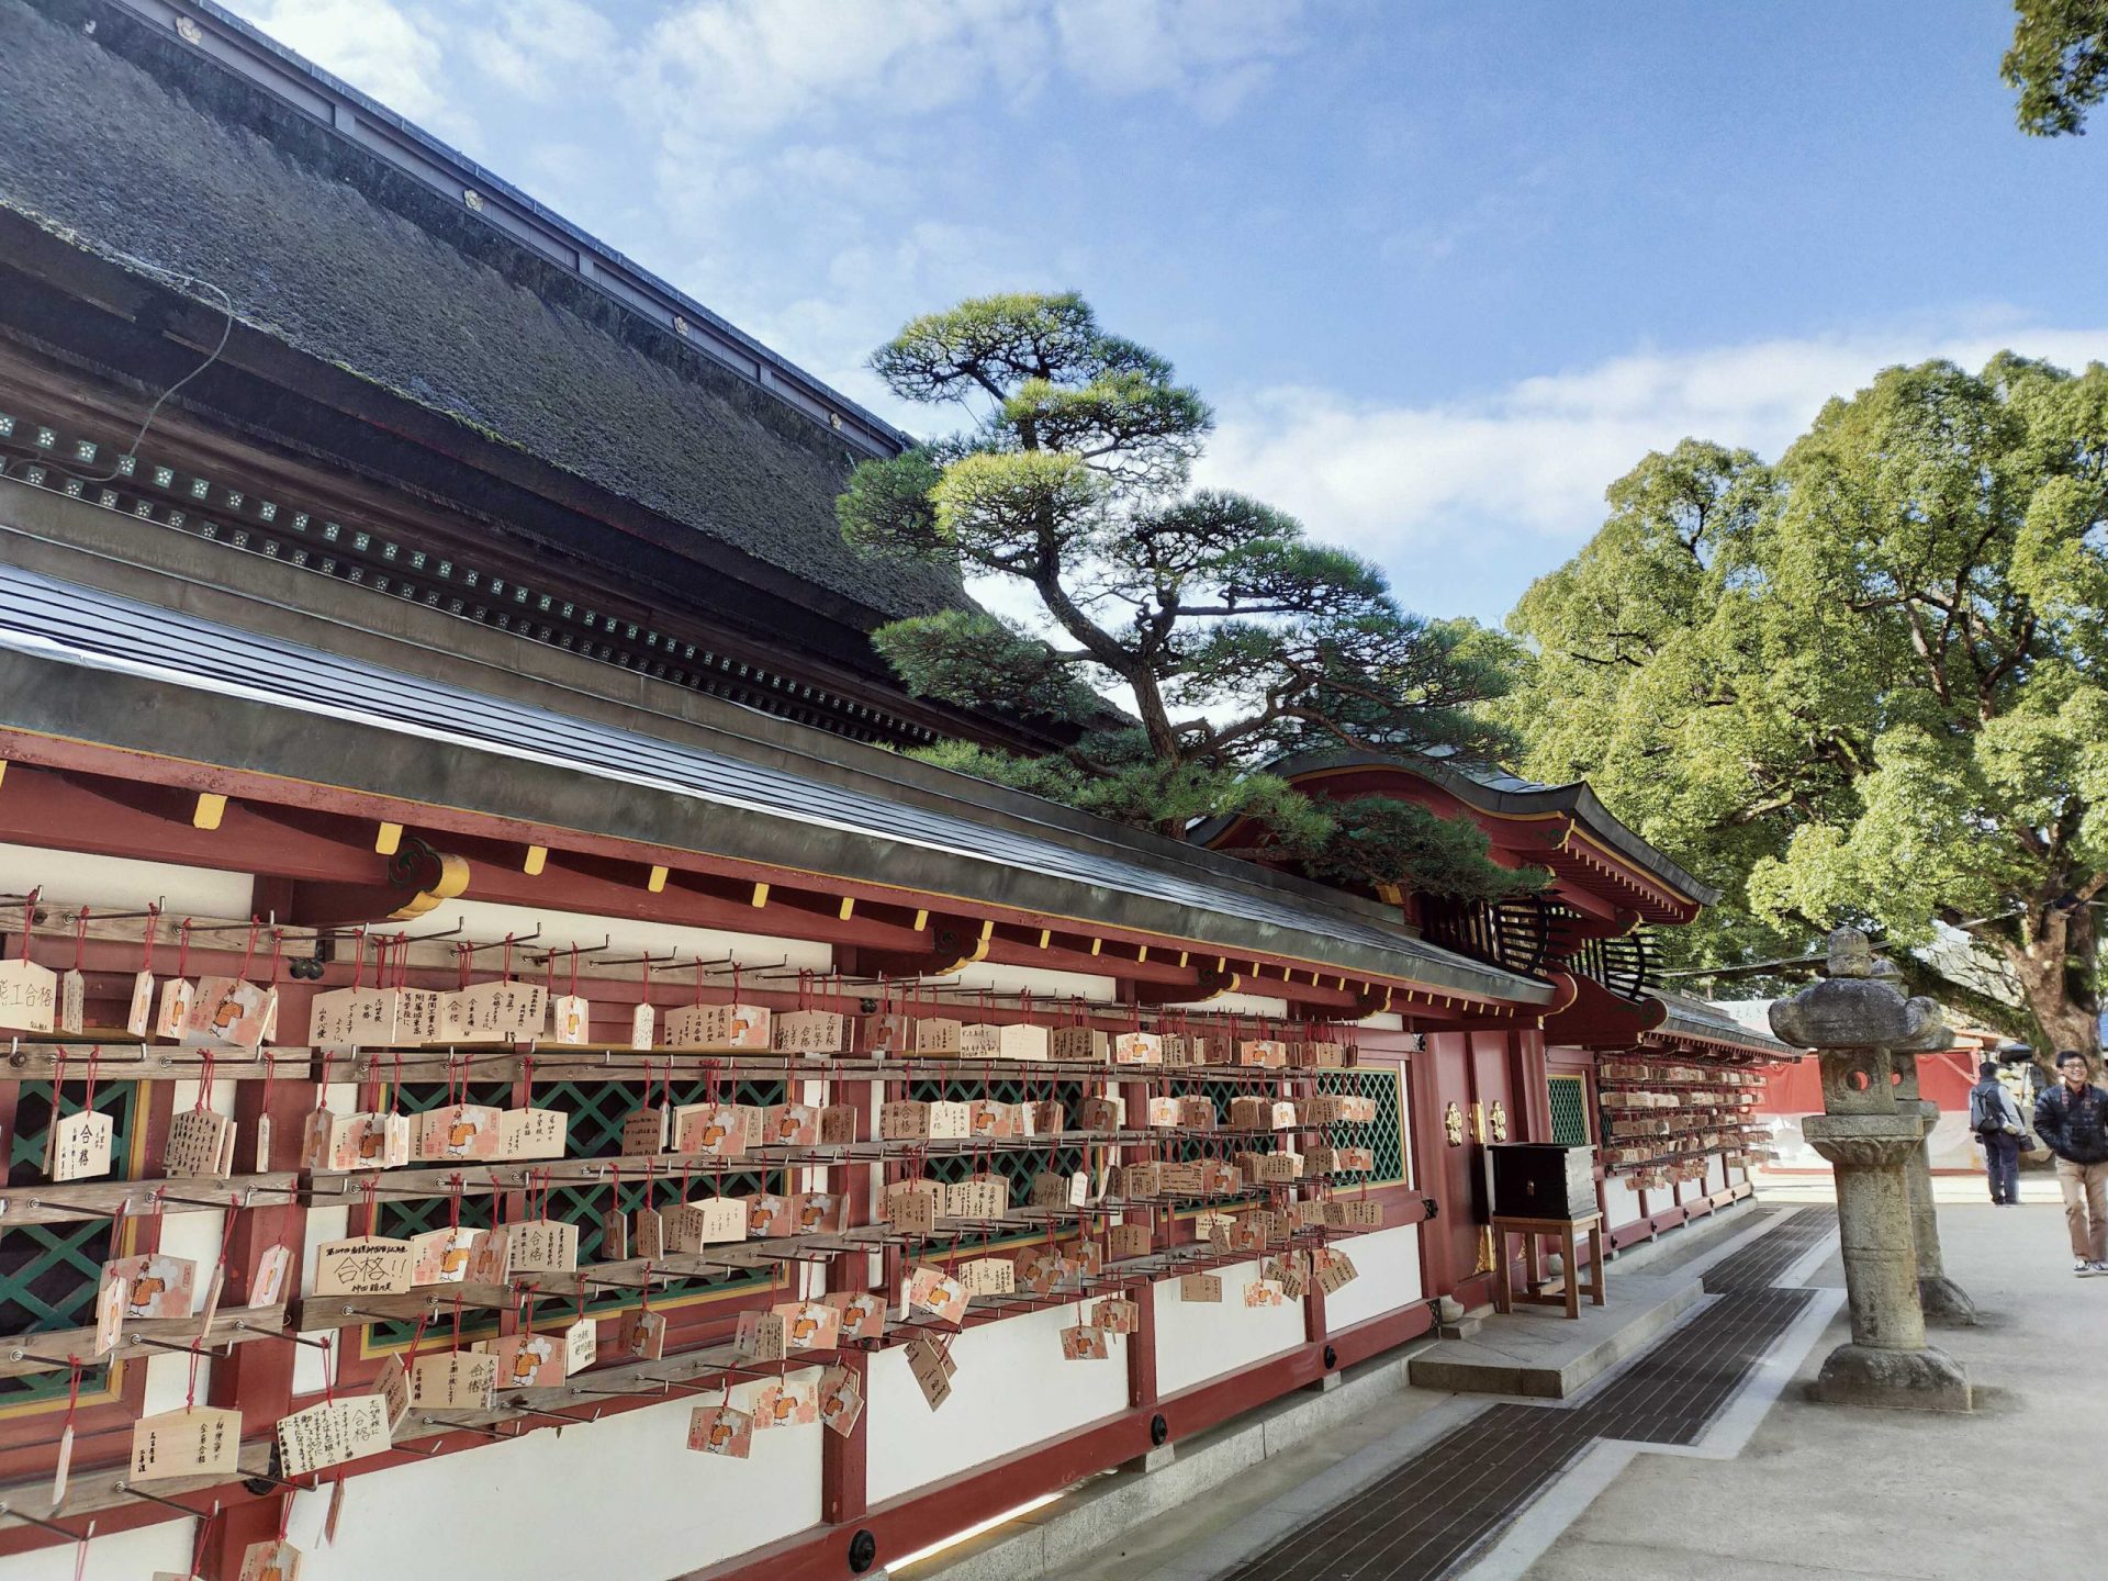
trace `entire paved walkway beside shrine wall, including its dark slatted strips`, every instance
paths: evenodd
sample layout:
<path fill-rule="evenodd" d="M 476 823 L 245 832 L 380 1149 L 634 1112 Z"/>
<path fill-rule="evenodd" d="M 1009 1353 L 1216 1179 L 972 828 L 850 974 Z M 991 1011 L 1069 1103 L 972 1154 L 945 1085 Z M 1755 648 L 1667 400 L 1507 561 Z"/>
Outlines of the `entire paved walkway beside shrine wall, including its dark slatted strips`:
<path fill-rule="evenodd" d="M 1828 1180 L 1802 1178 L 1733 1233 L 1655 1263 L 1651 1275 L 1703 1267 L 1707 1301 L 1577 1400 L 1406 1389 L 1060 1575 L 2108 1575 L 2108 1280 L 2072 1277 L 2062 1208 L 2030 1185 L 2019 1208 L 1992 1208 L 1979 1180 L 1937 1191 L 1948 1271 L 1986 1322 L 1935 1343 L 1969 1368 L 1975 1414 L 1813 1402 L 1849 1330 L 1834 1229 L 1807 1212 L 1828 1210 Z"/>

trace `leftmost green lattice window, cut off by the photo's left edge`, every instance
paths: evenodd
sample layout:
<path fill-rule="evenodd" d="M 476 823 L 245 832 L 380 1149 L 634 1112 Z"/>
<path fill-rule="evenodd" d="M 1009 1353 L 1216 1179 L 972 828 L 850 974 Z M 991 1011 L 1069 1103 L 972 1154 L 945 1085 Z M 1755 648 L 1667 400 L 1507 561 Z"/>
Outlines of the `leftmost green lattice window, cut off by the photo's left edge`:
<path fill-rule="evenodd" d="M 61 1113 L 74 1113 L 86 1100 L 86 1086 L 67 1081 Z M 133 1136 L 139 1117 L 137 1081 L 101 1081 L 95 1107 L 110 1115 L 116 1128 L 112 1170 L 105 1178 L 122 1180 L 131 1172 Z M 8 1185 L 30 1187 L 44 1180 L 44 1145 L 51 1136 L 51 1084 L 23 1081 L 15 1098 L 15 1124 L 8 1132 Z M 95 1286 L 103 1263 L 118 1252 L 110 1244 L 112 1221 L 80 1218 L 65 1225 L 17 1225 L 0 1233 L 0 1334 L 44 1334 L 59 1328 L 91 1328 L 95 1324 Z M 30 1349 L 36 1349 L 34 1345 Z M 82 1374 L 82 1393 L 101 1391 L 108 1368 Z M 27 1372 L 0 1379 L 0 1404 L 65 1398 L 67 1374 Z"/>

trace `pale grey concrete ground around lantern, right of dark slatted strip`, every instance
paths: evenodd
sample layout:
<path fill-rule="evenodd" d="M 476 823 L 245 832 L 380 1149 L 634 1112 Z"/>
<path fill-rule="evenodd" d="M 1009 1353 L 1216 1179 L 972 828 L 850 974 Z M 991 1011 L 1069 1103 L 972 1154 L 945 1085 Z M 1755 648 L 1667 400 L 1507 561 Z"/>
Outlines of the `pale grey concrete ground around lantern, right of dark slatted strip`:
<path fill-rule="evenodd" d="M 1933 1339 L 1969 1368 L 1977 1412 L 1815 1404 L 1807 1385 L 1847 1336 L 1834 1322 L 1739 1455 L 1598 1450 L 1473 1581 L 2108 1575 L 2108 1280 L 2072 1277 L 2049 1204 L 1965 1199 L 1939 1227 L 1986 1322 Z M 1813 1284 L 1842 1284 L 1836 1261 Z"/>

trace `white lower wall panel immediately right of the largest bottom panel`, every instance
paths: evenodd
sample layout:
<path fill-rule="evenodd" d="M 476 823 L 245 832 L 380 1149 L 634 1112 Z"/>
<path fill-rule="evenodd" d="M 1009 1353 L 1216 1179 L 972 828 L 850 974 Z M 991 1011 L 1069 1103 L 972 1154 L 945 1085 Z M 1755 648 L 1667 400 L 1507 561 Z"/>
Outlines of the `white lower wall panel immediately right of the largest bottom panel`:
<path fill-rule="evenodd" d="M 951 1347 L 959 1374 L 942 1410 L 923 1404 L 904 1349 L 873 1355 L 864 1410 L 871 1503 L 1126 1410 L 1126 1341 L 1113 1339 L 1102 1362 L 1065 1362 L 1060 1330 L 1075 1320 L 1067 1305 L 959 1334 Z"/>

